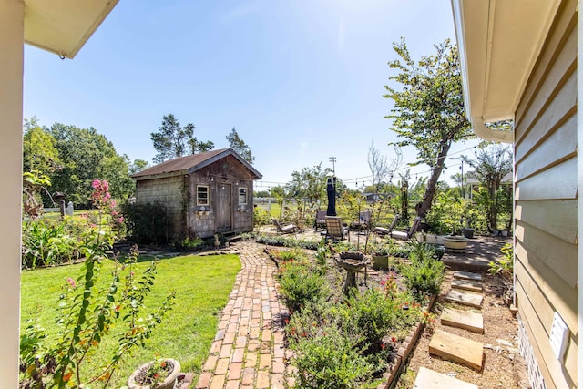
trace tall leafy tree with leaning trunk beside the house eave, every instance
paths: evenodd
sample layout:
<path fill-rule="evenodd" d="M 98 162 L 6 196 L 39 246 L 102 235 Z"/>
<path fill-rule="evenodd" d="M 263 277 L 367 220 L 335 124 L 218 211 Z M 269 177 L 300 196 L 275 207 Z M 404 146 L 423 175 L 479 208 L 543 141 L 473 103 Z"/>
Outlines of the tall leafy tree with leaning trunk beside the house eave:
<path fill-rule="evenodd" d="M 419 216 L 431 209 L 437 181 L 444 169 L 445 158 L 452 143 L 474 138 L 470 123 L 465 118 L 457 46 L 449 39 L 436 45 L 436 53 L 423 56 L 417 63 L 411 58 L 404 37 L 393 44 L 400 57 L 389 62 L 398 73 L 389 79 L 401 87 L 385 86 L 384 97 L 394 101 L 393 129 L 401 139 L 399 147 L 417 148 L 417 162 L 431 169 L 424 198 L 415 207 Z"/>

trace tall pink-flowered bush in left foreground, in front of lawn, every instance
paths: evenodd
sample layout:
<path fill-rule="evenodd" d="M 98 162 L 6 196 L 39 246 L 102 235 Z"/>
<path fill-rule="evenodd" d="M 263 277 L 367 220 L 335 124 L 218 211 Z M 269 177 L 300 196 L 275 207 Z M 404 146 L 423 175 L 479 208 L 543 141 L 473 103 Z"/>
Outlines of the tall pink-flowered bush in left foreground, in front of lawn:
<path fill-rule="evenodd" d="M 143 346 L 171 309 L 174 293 L 153 313 L 146 317 L 140 315 L 144 299 L 154 284 L 157 261 L 152 261 L 148 269 L 137 275 L 133 266 L 138 257 L 137 247 L 128 261 L 117 261 L 106 287 L 96 286 L 117 230 L 105 221 L 111 220 L 115 206 L 107 181 L 96 179 L 92 187 L 95 190 L 91 200 L 97 213 L 87 219 L 88 227 L 79 243 L 79 251 L 86 260 L 77 277 L 66 279 L 65 292 L 57 304 L 60 328 L 56 339 L 48 339 L 34 320 L 27 321 L 29 325 L 20 337 L 21 387 L 89 387 L 97 382 L 100 387 L 106 387 L 122 357 L 132 348 Z M 112 221 L 120 218 L 123 216 Z M 118 342 L 117 351 L 100 374 L 84 376 L 81 366 L 96 353 L 99 343 L 112 329 L 118 332 L 112 334 Z"/>

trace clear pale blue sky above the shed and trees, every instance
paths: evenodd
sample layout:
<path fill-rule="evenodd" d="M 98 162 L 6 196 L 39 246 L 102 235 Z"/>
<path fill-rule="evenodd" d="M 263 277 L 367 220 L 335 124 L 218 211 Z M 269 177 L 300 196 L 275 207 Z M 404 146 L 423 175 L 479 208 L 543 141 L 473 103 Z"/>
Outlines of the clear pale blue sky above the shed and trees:
<path fill-rule="evenodd" d="M 151 163 L 150 133 L 172 113 L 216 148 L 237 128 L 263 174 L 256 189 L 332 168 L 331 156 L 354 188 L 371 174 L 371 144 L 394 157 L 383 95 L 401 36 L 416 59 L 455 41 L 450 2 L 121 1 L 73 60 L 26 46 L 24 116 L 96 128 L 118 153 Z M 426 170 L 412 168 L 413 178 Z"/>

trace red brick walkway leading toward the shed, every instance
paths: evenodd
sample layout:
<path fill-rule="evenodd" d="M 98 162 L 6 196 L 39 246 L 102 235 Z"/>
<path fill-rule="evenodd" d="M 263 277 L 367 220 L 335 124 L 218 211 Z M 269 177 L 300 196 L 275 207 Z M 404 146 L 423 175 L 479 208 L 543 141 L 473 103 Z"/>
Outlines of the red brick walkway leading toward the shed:
<path fill-rule="evenodd" d="M 283 388 L 285 347 L 275 264 L 254 242 L 237 243 L 241 270 L 196 388 Z"/>

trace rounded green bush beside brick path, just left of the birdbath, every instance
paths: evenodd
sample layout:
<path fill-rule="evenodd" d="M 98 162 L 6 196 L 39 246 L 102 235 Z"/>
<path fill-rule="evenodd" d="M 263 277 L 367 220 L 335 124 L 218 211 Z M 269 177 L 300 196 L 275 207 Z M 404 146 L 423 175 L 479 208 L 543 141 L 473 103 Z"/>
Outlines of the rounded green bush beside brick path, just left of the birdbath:
<path fill-rule="evenodd" d="M 291 312 L 299 312 L 307 302 L 318 301 L 329 294 L 323 277 L 306 261 L 282 262 L 279 282 L 281 298 Z"/>

